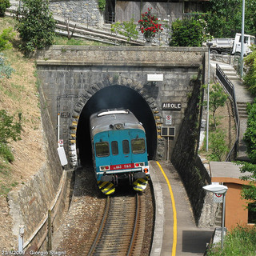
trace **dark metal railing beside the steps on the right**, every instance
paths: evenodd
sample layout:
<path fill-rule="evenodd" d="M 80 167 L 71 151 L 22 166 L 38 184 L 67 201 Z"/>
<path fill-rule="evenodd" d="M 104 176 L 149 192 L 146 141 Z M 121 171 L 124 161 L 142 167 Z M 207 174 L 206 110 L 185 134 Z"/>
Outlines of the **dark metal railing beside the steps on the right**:
<path fill-rule="evenodd" d="M 238 152 L 238 142 L 239 142 L 239 133 L 240 133 L 240 119 L 238 114 L 238 106 L 237 106 L 237 100 L 235 97 L 235 91 L 234 91 L 234 85 L 232 82 L 230 82 L 230 79 L 227 78 L 226 74 L 222 71 L 220 66 L 216 64 L 216 76 L 218 80 L 222 83 L 222 86 L 224 86 L 224 89 L 226 92 L 230 95 L 230 98 L 233 102 L 233 108 L 234 108 L 234 119 L 237 126 L 237 137 L 236 141 L 234 142 L 234 146 L 230 150 L 229 154 L 226 156 L 226 162 L 230 161 L 231 155 L 236 154 Z"/>

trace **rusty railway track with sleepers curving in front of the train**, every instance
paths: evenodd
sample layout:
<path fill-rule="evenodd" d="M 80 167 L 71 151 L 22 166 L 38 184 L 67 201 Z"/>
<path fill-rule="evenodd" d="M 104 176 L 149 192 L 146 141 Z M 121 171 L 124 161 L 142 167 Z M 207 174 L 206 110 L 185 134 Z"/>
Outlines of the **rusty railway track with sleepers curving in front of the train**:
<path fill-rule="evenodd" d="M 106 199 L 106 209 L 89 255 L 140 255 L 145 232 L 143 194 Z"/>

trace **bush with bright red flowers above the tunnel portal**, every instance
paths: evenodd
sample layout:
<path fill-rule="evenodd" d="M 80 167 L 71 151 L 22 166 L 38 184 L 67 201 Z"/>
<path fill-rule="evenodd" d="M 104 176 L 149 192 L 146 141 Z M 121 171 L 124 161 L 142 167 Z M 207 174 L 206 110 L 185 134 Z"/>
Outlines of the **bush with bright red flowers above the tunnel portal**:
<path fill-rule="evenodd" d="M 151 10 L 152 8 L 148 8 L 148 11 L 143 13 L 142 18 L 138 21 L 139 30 L 144 35 L 146 42 L 151 42 L 152 38 L 163 30 L 162 24 L 158 23 L 158 18 L 151 14 Z"/>

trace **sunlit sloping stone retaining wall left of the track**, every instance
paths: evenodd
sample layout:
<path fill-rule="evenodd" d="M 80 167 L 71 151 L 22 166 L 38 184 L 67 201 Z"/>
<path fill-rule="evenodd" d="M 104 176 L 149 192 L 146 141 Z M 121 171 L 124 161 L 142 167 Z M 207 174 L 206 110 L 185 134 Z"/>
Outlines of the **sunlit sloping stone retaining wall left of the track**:
<path fill-rule="evenodd" d="M 18 236 L 19 226 L 25 226 L 24 242 L 36 230 L 38 224 L 46 217 L 48 209 L 57 194 L 58 185 L 62 178 L 62 166 L 57 153 L 57 140 L 54 134 L 54 127 L 50 121 L 49 112 L 42 91 L 42 126 L 46 146 L 46 162 L 38 173 L 22 186 L 21 190 L 11 191 L 8 194 L 10 214 L 13 218 L 13 234 Z M 42 238 L 39 232 L 38 239 Z"/>

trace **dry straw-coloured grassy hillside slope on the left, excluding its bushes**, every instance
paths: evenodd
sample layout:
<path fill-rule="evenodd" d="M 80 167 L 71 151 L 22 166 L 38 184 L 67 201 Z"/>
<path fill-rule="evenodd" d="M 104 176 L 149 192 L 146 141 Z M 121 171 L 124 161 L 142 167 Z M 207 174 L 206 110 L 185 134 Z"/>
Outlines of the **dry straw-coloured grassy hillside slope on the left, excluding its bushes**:
<path fill-rule="evenodd" d="M 12 18 L 0 18 L 0 34 L 10 26 L 14 26 Z M 16 45 L 17 36 L 14 47 L 3 51 L 15 72 L 9 79 L 0 78 L 0 110 L 4 109 L 17 118 L 18 113 L 22 113 L 22 139 L 10 144 L 14 162 L 7 164 L 0 158 L 1 250 L 18 248 L 17 238 L 12 235 L 12 219 L 6 195 L 10 190 L 25 184 L 46 160 L 34 60 L 25 58 Z"/>

